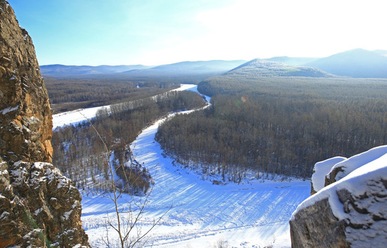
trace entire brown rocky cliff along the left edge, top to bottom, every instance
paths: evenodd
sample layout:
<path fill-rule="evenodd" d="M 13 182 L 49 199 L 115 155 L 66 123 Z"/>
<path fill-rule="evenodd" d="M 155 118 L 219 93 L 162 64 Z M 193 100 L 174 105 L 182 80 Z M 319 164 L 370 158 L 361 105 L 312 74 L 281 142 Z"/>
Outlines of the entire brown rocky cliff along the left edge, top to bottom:
<path fill-rule="evenodd" d="M 81 195 L 51 164 L 51 137 L 32 39 L 0 0 L 0 247 L 88 246 Z"/>

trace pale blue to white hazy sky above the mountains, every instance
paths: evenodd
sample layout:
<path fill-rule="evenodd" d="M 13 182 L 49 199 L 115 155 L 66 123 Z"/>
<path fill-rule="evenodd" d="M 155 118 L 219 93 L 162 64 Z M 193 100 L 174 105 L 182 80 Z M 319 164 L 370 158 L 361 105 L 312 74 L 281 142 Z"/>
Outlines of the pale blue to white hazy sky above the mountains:
<path fill-rule="evenodd" d="M 40 65 L 387 50 L 386 0 L 8 0 Z"/>

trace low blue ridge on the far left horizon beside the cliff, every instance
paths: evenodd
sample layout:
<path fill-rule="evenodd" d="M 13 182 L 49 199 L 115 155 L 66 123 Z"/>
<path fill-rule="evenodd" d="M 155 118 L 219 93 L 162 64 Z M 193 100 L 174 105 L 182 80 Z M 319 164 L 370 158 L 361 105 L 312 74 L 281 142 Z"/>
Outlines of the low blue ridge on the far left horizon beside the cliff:
<path fill-rule="evenodd" d="M 54 77 L 77 75 L 112 74 L 128 70 L 149 68 L 145 65 L 41 65 L 41 74 Z"/>

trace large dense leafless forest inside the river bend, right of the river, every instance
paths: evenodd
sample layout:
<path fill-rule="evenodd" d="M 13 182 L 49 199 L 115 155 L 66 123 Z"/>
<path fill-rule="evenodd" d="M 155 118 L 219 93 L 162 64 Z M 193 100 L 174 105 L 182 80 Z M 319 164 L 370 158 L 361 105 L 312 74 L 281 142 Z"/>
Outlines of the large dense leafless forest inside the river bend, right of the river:
<path fill-rule="evenodd" d="M 163 123 L 165 152 L 204 174 L 311 176 L 313 165 L 387 143 L 387 81 L 216 76 L 211 107 Z"/>

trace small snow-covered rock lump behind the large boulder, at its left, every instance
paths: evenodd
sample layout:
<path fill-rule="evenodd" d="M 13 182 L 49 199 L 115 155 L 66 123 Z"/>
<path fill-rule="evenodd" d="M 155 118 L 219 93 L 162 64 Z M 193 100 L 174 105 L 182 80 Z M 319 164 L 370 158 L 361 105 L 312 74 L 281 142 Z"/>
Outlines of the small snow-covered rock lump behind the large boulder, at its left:
<path fill-rule="evenodd" d="M 325 186 L 325 176 L 331 172 L 331 169 L 335 164 L 342 162 L 345 159 L 346 158 L 344 157 L 337 156 L 315 164 L 311 180 L 311 194 L 315 194 Z"/>

